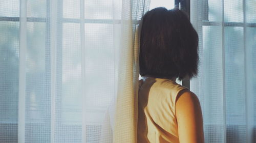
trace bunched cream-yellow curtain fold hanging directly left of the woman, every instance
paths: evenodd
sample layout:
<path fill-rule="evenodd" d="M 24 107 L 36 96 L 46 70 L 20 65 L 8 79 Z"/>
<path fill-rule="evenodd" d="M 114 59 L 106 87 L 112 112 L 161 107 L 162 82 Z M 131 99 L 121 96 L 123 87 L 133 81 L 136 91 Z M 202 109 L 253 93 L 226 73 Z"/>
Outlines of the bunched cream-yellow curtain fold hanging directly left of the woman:
<path fill-rule="evenodd" d="M 139 28 L 138 24 L 144 12 L 149 7 L 149 1 L 122 1 L 122 15 L 120 27 L 120 48 L 118 64 L 117 96 L 111 105 L 111 114 L 107 112 L 106 127 L 112 132 L 104 136 L 112 138 L 114 142 L 137 142 L 137 96 L 139 79 Z M 114 109 L 113 109 L 114 107 Z M 113 111 L 115 111 L 113 113 Z M 114 120 L 114 121 L 113 121 Z M 110 130 L 107 128 L 106 130 Z M 105 139 L 105 140 L 106 140 Z M 112 140 L 109 140 L 112 142 Z M 106 142 L 109 142 L 106 141 Z"/>

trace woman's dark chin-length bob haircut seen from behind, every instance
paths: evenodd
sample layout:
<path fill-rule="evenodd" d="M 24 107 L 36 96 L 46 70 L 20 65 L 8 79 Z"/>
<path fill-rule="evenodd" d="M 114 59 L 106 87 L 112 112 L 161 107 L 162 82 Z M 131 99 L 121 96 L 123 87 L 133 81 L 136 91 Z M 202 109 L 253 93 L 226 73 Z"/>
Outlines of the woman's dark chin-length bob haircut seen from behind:
<path fill-rule="evenodd" d="M 140 75 L 179 80 L 198 71 L 198 34 L 187 15 L 159 7 L 142 18 Z"/>

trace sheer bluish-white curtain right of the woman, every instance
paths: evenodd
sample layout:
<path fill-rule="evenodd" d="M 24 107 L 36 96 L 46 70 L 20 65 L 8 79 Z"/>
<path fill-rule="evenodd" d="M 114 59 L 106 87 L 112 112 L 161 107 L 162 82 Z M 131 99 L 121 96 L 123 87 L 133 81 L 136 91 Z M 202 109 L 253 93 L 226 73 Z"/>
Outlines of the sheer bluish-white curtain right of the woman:
<path fill-rule="evenodd" d="M 191 0 L 205 142 L 256 141 L 256 1 Z"/>

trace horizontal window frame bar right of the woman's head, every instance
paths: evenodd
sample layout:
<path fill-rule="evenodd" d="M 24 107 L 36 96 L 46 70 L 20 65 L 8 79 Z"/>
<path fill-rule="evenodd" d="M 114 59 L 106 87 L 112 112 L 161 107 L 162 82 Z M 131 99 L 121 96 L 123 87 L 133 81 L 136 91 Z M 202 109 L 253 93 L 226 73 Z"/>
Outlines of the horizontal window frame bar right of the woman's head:
<path fill-rule="evenodd" d="M 203 26 L 221 26 L 222 22 L 218 21 L 202 21 Z M 225 27 L 243 27 L 243 22 L 224 22 Z M 246 23 L 246 27 L 256 27 L 256 23 Z"/>

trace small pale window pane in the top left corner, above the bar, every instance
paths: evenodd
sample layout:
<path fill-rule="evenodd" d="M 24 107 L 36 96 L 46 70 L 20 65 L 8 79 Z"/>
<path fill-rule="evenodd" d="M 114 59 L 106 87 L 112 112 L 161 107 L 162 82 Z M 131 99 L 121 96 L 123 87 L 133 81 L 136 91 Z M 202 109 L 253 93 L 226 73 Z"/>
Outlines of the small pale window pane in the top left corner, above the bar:
<path fill-rule="evenodd" d="M 0 1 L 0 16 L 19 17 L 19 0 Z"/>

